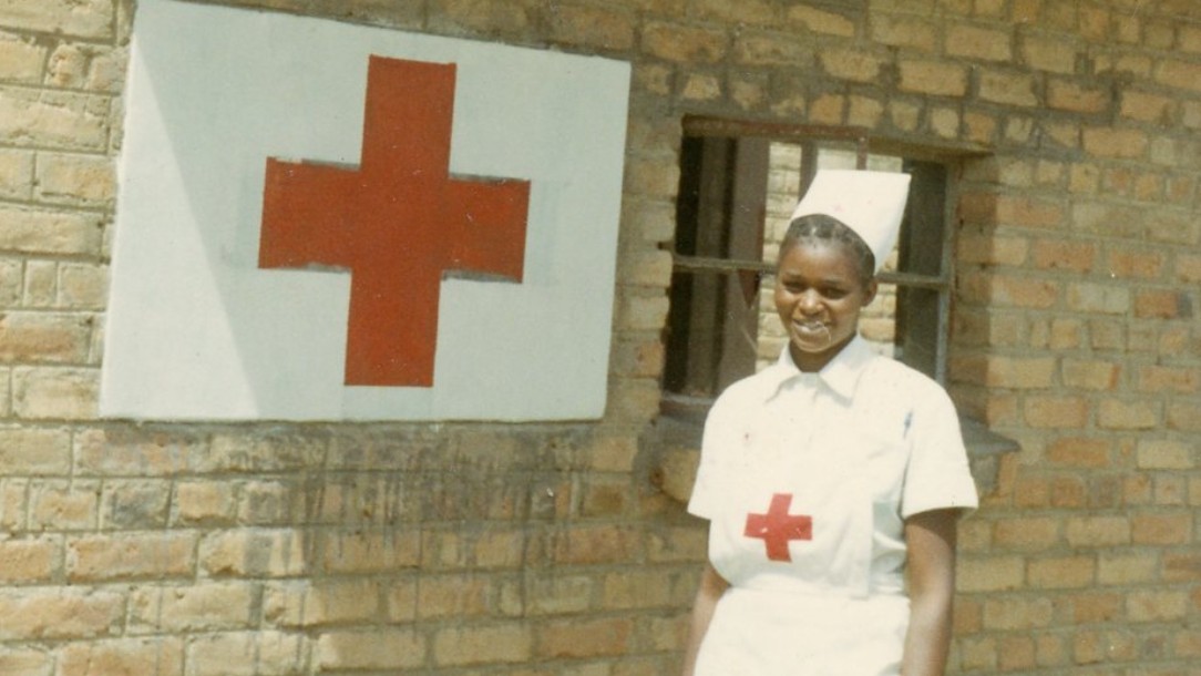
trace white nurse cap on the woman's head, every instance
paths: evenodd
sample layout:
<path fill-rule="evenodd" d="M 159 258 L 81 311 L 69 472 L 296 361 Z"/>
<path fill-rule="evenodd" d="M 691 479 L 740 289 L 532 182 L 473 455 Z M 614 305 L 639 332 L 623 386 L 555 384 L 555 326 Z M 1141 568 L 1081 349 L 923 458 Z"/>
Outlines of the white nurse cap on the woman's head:
<path fill-rule="evenodd" d="M 876 256 L 876 271 L 892 252 L 909 197 L 909 174 L 819 169 L 791 220 L 832 216 L 864 238 Z"/>

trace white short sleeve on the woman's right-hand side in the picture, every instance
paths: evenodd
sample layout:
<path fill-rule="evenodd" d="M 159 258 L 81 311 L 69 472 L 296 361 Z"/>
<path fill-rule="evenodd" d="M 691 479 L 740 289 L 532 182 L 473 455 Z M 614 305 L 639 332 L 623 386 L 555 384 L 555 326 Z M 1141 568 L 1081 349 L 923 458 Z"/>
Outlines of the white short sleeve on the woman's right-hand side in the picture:
<path fill-rule="evenodd" d="M 922 393 L 908 421 L 910 442 L 901 516 L 979 505 L 955 405 L 942 387 Z"/>

